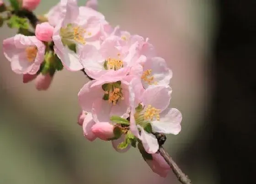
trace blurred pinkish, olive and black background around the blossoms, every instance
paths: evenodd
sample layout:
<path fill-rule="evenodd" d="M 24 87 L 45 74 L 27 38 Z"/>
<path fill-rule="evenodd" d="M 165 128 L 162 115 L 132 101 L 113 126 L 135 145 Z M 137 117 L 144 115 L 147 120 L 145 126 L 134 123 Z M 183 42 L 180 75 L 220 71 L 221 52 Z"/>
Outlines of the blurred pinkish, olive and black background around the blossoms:
<path fill-rule="evenodd" d="M 36 13 L 57 2 L 42 0 Z M 182 112 L 182 131 L 164 147 L 193 184 L 255 182 L 255 7 L 255 0 L 99 0 L 107 21 L 149 37 L 172 69 L 170 106 Z M 2 27 L 0 42 L 15 33 Z M 0 184 L 179 184 L 172 172 L 153 173 L 136 149 L 121 154 L 83 137 L 82 72 L 58 72 L 39 92 L 11 71 L 2 47 L 0 61 Z"/>

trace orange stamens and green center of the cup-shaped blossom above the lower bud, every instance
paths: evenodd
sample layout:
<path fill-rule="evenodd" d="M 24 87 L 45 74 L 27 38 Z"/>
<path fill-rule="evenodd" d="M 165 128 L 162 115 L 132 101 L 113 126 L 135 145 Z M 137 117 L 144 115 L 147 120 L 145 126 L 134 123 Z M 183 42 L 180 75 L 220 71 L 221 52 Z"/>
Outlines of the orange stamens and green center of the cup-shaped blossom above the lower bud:
<path fill-rule="evenodd" d="M 113 105 L 117 104 L 118 100 L 123 100 L 121 82 L 103 84 L 102 89 L 104 90 L 103 100 L 108 100 Z"/>

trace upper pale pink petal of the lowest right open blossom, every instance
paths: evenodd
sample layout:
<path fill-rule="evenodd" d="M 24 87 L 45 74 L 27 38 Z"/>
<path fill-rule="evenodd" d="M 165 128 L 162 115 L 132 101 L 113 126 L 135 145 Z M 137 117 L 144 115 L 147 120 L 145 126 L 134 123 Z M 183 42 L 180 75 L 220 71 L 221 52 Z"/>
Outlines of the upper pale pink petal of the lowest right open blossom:
<path fill-rule="evenodd" d="M 165 110 L 171 100 L 170 86 L 152 86 L 144 91 L 142 102 L 145 106 L 152 105 L 156 109 Z"/>

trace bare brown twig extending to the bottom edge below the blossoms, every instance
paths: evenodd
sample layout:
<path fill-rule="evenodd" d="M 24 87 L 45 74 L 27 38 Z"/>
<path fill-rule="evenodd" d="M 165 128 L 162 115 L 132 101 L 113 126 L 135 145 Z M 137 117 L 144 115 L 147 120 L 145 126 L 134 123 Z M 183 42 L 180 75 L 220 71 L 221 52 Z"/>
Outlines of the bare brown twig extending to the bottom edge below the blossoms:
<path fill-rule="evenodd" d="M 177 179 L 182 184 L 191 184 L 190 179 L 188 176 L 184 173 L 182 173 L 181 169 L 179 166 L 174 162 L 174 160 L 171 158 L 171 156 L 165 151 L 163 147 L 159 148 L 160 155 L 165 159 L 165 161 L 170 165 L 172 168 L 173 173 L 176 175 Z"/>

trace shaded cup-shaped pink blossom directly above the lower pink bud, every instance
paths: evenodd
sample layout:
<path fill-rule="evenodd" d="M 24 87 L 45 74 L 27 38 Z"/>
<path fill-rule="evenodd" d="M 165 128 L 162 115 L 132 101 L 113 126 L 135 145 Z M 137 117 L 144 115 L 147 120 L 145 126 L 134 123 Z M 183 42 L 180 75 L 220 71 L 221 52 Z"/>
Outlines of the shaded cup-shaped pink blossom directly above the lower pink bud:
<path fill-rule="evenodd" d="M 92 112 L 97 116 L 99 122 L 109 122 L 111 116 L 129 116 L 129 80 L 126 79 L 109 79 L 109 80 L 92 80 L 85 84 L 78 93 L 79 103 L 83 110 Z M 136 83 L 137 101 L 139 93 L 143 87 Z M 135 85 L 135 83 L 134 83 Z"/>

